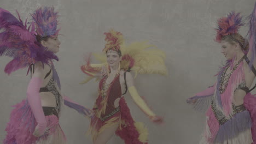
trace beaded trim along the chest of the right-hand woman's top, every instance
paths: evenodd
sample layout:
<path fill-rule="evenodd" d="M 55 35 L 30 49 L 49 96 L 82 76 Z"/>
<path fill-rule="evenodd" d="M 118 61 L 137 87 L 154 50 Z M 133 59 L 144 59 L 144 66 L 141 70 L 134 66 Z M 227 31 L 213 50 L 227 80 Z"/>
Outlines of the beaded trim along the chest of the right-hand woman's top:
<path fill-rule="evenodd" d="M 220 77 L 220 83 L 219 83 L 219 93 L 222 94 L 226 91 L 226 87 L 228 86 L 230 76 L 234 73 L 238 65 L 245 59 L 245 56 L 243 56 L 237 64 L 233 67 L 231 70 L 231 73 L 226 74 L 226 70 L 228 70 L 229 67 L 226 67 L 226 69 L 223 71 L 222 76 Z M 224 82 L 225 81 L 225 82 Z M 224 86 L 224 87 L 223 87 Z"/>

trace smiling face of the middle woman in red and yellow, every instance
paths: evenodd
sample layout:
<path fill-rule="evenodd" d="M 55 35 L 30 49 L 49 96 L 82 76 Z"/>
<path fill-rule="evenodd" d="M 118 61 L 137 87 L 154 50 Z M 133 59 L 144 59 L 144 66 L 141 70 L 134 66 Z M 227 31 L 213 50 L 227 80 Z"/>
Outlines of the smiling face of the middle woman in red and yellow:
<path fill-rule="evenodd" d="M 118 66 L 121 61 L 121 57 L 118 55 L 117 51 L 108 50 L 107 51 L 107 62 L 110 67 Z"/>

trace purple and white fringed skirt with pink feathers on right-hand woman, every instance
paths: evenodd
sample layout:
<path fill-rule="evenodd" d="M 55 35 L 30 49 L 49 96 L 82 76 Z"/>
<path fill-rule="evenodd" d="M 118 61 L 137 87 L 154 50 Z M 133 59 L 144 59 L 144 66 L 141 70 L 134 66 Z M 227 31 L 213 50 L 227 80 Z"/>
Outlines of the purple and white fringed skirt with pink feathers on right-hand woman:
<path fill-rule="evenodd" d="M 251 144 L 256 142 L 256 97 L 247 93 L 245 111 L 236 113 L 227 122 L 219 125 L 211 107 L 206 112 L 206 128 L 200 144 Z"/>

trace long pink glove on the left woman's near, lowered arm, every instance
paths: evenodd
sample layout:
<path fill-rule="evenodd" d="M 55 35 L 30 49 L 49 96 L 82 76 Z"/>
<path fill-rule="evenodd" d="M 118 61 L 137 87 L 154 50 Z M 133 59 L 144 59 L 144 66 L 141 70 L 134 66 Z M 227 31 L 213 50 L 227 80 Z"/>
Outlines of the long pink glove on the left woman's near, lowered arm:
<path fill-rule="evenodd" d="M 44 134 L 46 128 L 46 119 L 39 96 L 39 89 L 42 82 L 43 80 L 39 77 L 32 77 L 27 87 L 27 100 L 33 112 L 34 118 L 36 118 L 39 136 Z"/>

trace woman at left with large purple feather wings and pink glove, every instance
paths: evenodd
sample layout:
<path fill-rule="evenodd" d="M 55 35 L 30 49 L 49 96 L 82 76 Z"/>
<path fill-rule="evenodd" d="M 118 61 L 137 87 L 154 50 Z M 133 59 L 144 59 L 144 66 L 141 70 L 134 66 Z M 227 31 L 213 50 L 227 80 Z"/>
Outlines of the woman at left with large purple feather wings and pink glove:
<path fill-rule="evenodd" d="M 44 7 L 31 16 L 33 21 L 27 28 L 28 22 L 22 22 L 20 16 L 18 20 L 0 9 L 0 56 L 13 57 L 4 71 L 10 74 L 27 67 L 31 71 L 27 98 L 11 111 L 3 143 L 66 143 L 59 125 L 63 100 L 79 113 L 89 115 L 90 111 L 60 93 L 60 80 L 53 65 L 53 60 L 58 61 L 55 53 L 61 44 L 58 13 L 53 7 Z"/>

